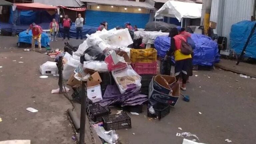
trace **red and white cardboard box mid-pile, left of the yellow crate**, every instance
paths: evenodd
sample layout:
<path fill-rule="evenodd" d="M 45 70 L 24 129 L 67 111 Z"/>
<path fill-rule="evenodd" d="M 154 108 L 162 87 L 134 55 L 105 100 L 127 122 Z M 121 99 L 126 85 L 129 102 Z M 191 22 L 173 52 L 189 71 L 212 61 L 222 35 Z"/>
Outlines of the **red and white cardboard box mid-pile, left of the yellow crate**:
<path fill-rule="evenodd" d="M 124 57 L 125 62 L 118 60 L 117 55 Z M 127 66 L 131 63 L 129 55 L 124 51 L 112 51 L 110 55 L 105 58 L 105 62 L 108 65 L 108 70 L 112 71 Z"/>

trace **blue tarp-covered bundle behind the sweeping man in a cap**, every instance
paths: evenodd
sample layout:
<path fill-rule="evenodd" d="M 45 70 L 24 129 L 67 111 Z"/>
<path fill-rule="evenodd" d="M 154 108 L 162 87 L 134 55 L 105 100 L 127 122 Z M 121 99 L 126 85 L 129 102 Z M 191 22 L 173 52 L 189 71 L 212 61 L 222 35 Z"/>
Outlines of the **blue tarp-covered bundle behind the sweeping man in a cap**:
<path fill-rule="evenodd" d="M 31 30 L 29 31 L 28 34 L 26 33 L 26 31 L 23 31 L 19 34 L 18 42 L 24 42 L 24 43 L 31 44 L 31 40 L 32 40 L 32 31 Z M 50 39 L 46 33 L 42 33 L 41 44 L 43 47 L 50 45 Z M 37 45 L 37 41 L 36 41 L 36 45 Z"/>

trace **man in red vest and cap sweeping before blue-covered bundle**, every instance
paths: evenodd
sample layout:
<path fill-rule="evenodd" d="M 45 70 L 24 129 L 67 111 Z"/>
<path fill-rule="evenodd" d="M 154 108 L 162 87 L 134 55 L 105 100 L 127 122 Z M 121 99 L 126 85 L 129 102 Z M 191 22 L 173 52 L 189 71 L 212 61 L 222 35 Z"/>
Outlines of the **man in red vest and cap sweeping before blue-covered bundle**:
<path fill-rule="evenodd" d="M 32 23 L 28 30 L 27 30 L 27 34 L 29 32 L 29 30 L 32 30 L 32 41 L 31 41 L 31 48 L 33 49 L 33 51 L 35 51 L 35 41 L 37 41 L 37 45 L 38 45 L 38 52 L 41 52 L 42 51 L 42 48 L 41 48 L 41 34 L 43 32 L 43 29 L 42 27 L 36 25 L 36 23 Z"/>

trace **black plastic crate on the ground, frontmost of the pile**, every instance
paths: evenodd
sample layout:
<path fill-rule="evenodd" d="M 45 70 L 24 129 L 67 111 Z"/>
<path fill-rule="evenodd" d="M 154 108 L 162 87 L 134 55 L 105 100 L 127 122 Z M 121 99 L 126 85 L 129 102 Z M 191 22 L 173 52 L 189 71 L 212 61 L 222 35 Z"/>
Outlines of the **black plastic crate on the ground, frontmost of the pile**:
<path fill-rule="evenodd" d="M 103 127 L 106 131 L 132 128 L 131 118 L 127 113 L 103 116 Z"/>

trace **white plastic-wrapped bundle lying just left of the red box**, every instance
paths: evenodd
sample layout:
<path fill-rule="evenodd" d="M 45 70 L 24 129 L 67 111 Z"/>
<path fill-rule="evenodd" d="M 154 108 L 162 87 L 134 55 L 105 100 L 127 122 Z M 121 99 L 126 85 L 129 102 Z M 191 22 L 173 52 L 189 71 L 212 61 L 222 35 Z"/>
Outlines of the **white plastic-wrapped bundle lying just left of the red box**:
<path fill-rule="evenodd" d="M 108 72 L 108 66 L 104 61 L 85 61 L 84 68 L 98 72 Z"/>

